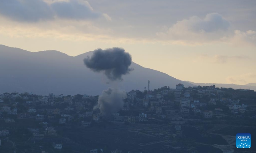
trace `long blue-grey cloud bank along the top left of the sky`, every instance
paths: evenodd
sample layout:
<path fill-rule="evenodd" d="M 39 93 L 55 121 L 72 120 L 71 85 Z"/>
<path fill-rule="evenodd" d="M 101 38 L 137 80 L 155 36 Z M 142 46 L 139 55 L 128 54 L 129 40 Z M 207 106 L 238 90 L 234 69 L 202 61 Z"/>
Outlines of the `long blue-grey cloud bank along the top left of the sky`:
<path fill-rule="evenodd" d="M 0 0 L 0 14 L 16 21 L 37 22 L 40 20 L 62 19 L 96 19 L 108 17 L 96 12 L 84 0 L 43 1 L 43 0 Z"/>

